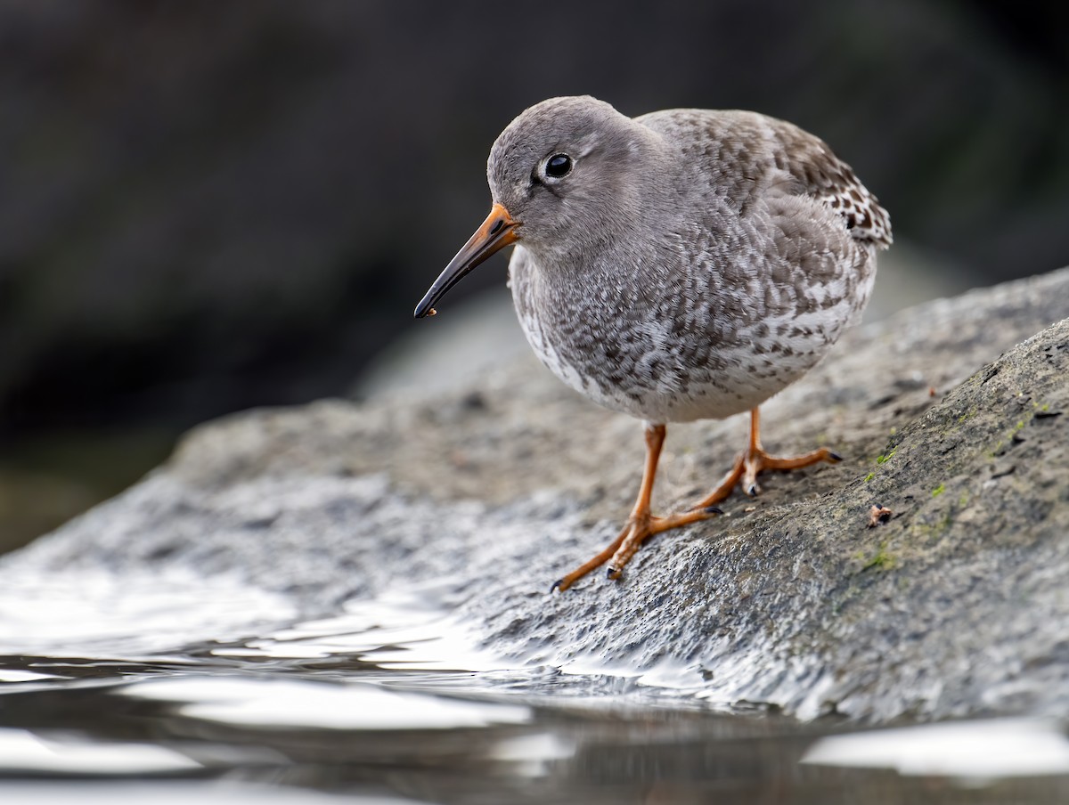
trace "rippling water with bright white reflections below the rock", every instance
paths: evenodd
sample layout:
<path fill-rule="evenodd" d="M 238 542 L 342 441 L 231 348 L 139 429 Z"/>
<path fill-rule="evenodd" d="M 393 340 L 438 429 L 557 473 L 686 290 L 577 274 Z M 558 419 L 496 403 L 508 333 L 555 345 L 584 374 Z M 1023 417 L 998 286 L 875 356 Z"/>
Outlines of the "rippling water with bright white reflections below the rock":
<path fill-rule="evenodd" d="M 1069 802 L 1054 721 L 858 730 L 509 663 L 428 588 L 309 618 L 239 579 L 10 576 L 5 805 Z"/>

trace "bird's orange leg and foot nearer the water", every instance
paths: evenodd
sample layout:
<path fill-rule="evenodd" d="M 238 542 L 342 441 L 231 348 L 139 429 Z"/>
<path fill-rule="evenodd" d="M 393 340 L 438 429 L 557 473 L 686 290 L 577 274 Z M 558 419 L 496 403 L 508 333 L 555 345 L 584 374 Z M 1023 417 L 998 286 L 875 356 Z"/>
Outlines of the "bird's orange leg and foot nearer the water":
<path fill-rule="evenodd" d="M 631 510 L 631 516 L 628 517 L 623 529 L 609 543 L 608 547 L 555 583 L 554 590 L 567 590 L 587 573 L 597 570 L 605 562 L 609 563 L 608 577 L 619 578 L 623 566 L 631 560 L 631 557 L 648 538 L 667 531 L 669 528 L 697 523 L 699 520 L 706 520 L 719 513 L 719 509 L 710 505 L 702 509 L 695 507 L 691 511 L 672 514 L 668 517 L 654 517 L 650 514 L 653 480 L 656 477 L 657 461 L 661 459 L 661 448 L 664 446 L 664 442 L 665 427 L 663 424 L 646 425 L 646 469 L 642 473 L 642 485 L 638 490 L 638 499 L 635 500 L 635 508 Z"/>

